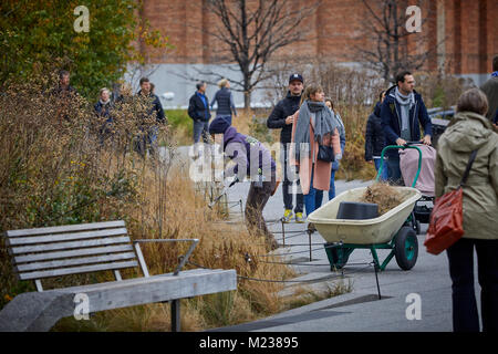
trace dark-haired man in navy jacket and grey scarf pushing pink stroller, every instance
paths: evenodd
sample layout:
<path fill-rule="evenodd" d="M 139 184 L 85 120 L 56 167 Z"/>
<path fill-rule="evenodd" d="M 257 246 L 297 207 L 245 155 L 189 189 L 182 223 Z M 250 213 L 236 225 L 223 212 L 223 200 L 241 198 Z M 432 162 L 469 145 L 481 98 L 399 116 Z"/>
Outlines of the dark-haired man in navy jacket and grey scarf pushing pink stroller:
<path fill-rule="evenodd" d="M 414 86 L 415 79 L 412 73 L 404 71 L 396 75 L 396 85 L 385 93 L 381 119 L 386 145 L 405 145 L 415 140 L 421 140 L 425 145 L 432 144 L 433 125 L 424 101 Z M 422 139 L 419 124 L 424 128 Z M 386 155 L 388 179 L 395 185 L 403 185 L 398 152 L 388 149 Z"/>

